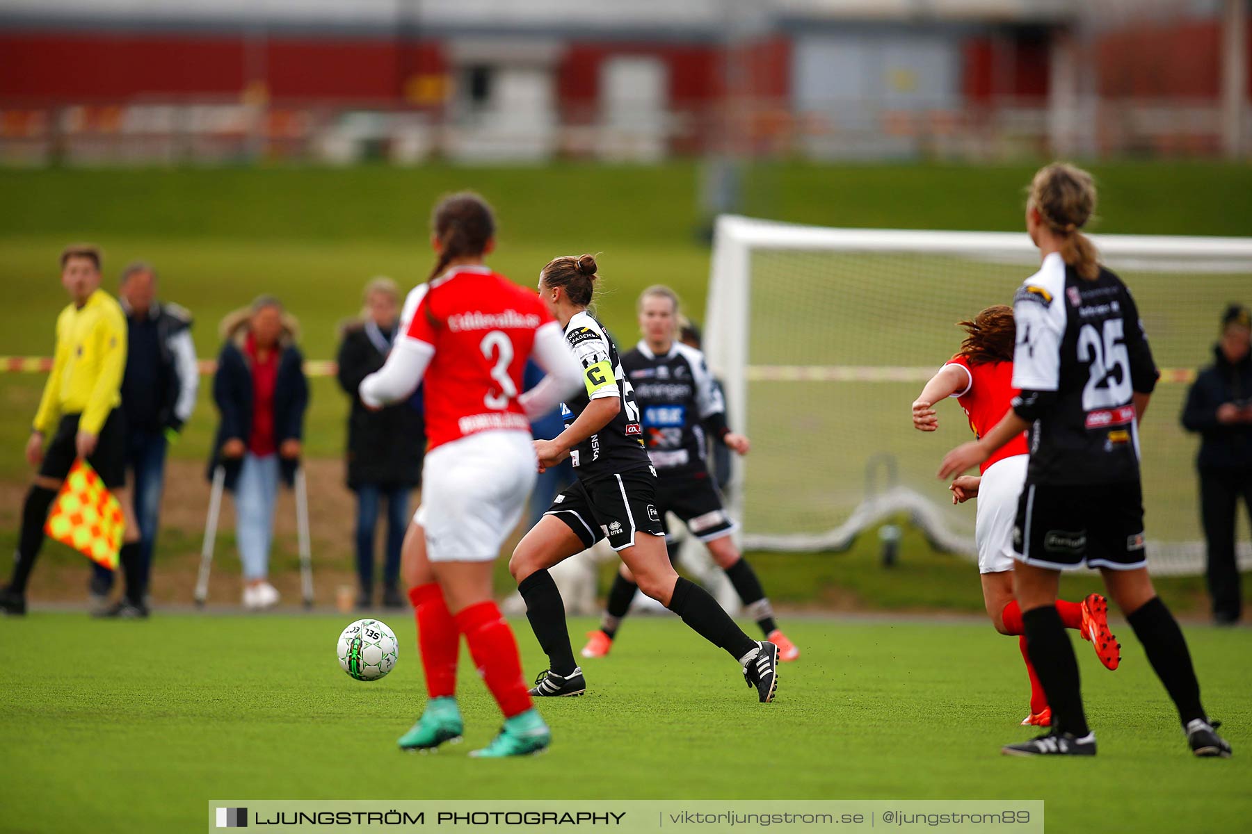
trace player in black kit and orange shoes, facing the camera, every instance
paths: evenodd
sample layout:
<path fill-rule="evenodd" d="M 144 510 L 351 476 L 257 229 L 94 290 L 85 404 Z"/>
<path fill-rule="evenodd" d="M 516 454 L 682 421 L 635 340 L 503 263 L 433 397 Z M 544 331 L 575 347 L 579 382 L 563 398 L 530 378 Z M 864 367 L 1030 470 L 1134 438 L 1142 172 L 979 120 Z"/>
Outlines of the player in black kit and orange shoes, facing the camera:
<path fill-rule="evenodd" d="M 780 660 L 795 660 L 800 650 L 774 623 L 774 609 L 756 571 L 741 556 L 731 534 L 735 523 L 721 505 L 721 495 L 709 476 L 705 429 L 736 454 L 746 455 L 747 438 L 726 425 L 726 404 L 709 373 L 704 354 L 675 341 L 679 296 L 669 286 L 650 286 L 636 304 L 644 338 L 622 356 L 626 378 L 635 388 L 644 420 L 644 444 L 656 469 L 656 499 L 661 520 L 677 515 L 700 539 L 717 566 L 726 571 L 746 613 L 760 625 L 765 639 L 779 648 Z M 582 649 L 583 658 L 602 658 L 612 648 L 622 619 L 639 586 L 622 565 L 608 591 L 600 629 Z"/>

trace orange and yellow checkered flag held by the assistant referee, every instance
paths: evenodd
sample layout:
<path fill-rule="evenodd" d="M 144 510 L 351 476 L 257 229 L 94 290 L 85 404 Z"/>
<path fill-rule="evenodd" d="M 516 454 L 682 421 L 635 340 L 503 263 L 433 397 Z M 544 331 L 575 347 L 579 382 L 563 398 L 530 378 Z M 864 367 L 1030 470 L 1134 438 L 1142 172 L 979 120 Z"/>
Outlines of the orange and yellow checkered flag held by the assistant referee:
<path fill-rule="evenodd" d="M 76 460 L 53 504 L 44 533 L 98 565 L 116 570 L 125 526 L 121 504 L 91 464 Z"/>

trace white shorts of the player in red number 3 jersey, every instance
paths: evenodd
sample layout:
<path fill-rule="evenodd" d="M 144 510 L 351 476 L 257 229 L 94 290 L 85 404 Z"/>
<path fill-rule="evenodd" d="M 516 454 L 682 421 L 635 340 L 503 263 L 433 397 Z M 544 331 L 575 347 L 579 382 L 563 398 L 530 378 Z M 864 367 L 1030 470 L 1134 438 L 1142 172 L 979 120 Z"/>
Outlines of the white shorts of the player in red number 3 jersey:
<path fill-rule="evenodd" d="M 538 461 L 531 435 L 481 431 L 431 450 L 422 464 L 422 505 L 431 561 L 491 561 L 517 526 Z"/>

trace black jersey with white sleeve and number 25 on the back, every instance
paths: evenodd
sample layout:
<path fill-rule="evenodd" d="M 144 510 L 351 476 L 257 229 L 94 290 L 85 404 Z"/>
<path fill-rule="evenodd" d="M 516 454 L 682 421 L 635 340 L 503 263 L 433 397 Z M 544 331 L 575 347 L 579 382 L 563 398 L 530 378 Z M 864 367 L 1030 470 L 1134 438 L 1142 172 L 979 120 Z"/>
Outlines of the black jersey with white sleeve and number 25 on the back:
<path fill-rule="evenodd" d="M 1133 395 L 1158 371 L 1131 291 L 1107 269 L 1088 281 L 1060 255 L 1013 300 L 1013 400 L 1032 420 L 1033 484 L 1112 484 L 1139 478 Z"/>

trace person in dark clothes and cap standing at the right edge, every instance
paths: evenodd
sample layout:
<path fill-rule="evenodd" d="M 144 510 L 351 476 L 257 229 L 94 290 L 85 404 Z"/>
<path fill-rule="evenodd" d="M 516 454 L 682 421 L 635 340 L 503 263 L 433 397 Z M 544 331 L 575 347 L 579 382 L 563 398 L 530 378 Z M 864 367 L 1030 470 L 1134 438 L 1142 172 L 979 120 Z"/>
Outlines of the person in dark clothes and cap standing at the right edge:
<path fill-rule="evenodd" d="M 1199 508 L 1208 544 L 1208 593 L 1218 625 L 1238 623 L 1243 600 L 1234 558 L 1239 496 L 1252 516 L 1252 315 L 1238 304 L 1222 316 L 1214 361 L 1187 393 L 1182 424 L 1202 440 Z"/>

